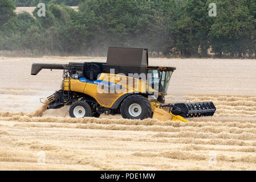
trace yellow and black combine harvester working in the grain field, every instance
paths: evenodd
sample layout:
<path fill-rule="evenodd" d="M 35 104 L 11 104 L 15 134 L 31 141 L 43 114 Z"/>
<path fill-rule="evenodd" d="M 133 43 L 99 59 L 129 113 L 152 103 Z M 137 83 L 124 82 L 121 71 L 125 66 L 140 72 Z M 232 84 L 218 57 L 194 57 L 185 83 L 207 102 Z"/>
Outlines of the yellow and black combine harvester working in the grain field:
<path fill-rule="evenodd" d="M 109 47 L 107 63 L 34 63 L 31 75 L 42 69 L 63 69 L 61 89 L 47 98 L 47 109 L 71 105 L 73 118 L 98 118 L 104 113 L 186 122 L 186 118 L 212 116 L 216 111 L 213 102 L 164 104 L 176 68 L 149 66 L 148 49 Z M 138 77 L 143 74 L 144 79 Z M 107 89 L 102 92 L 102 88 Z"/>

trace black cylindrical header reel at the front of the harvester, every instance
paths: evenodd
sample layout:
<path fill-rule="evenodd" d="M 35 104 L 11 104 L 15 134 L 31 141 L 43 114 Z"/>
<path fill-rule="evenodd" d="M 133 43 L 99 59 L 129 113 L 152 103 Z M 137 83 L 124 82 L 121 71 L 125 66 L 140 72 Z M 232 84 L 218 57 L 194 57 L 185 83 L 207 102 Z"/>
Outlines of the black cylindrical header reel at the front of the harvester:
<path fill-rule="evenodd" d="M 213 102 L 197 102 L 197 103 L 178 103 L 174 106 L 181 109 L 181 115 L 184 118 L 212 116 L 216 107 Z"/>

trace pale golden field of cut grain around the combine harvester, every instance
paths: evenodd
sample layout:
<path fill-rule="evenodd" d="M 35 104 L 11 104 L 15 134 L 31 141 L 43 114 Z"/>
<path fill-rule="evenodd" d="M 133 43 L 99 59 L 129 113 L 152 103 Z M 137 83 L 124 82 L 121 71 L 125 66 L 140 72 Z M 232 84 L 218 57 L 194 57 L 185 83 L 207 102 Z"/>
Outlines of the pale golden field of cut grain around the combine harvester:
<path fill-rule="evenodd" d="M 186 123 L 46 110 L 39 98 L 59 90 L 62 71 L 31 76 L 31 64 L 70 61 L 105 57 L 0 57 L 0 170 L 256 169 L 255 60 L 150 59 L 177 67 L 166 102 L 216 105 L 213 117 Z"/>

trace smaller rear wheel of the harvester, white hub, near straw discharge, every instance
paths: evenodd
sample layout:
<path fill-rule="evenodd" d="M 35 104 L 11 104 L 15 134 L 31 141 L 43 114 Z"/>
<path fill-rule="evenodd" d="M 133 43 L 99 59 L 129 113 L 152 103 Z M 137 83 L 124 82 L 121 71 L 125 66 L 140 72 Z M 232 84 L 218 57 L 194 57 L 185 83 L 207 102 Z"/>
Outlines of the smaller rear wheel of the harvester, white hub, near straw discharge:
<path fill-rule="evenodd" d="M 74 102 L 70 106 L 71 118 L 91 117 L 91 107 L 84 101 Z"/>

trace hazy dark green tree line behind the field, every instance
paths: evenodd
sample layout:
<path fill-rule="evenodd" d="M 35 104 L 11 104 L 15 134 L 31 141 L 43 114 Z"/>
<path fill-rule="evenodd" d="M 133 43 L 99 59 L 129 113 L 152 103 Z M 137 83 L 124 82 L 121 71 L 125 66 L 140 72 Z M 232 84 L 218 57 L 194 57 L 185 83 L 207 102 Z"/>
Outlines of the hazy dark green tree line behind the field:
<path fill-rule="evenodd" d="M 39 2 L 46 3 L 45 17 L 39 8 L 14 13 L 15 5 Z M 78 11 L 68 7 L 76 3 Z M 217 16 L 209 16 L 210 3 Z M 148 48 L 152 56 L 255 59 L 256 1 L 0 0 L 1 51 L 105 56 L 109 46 Z"/>

